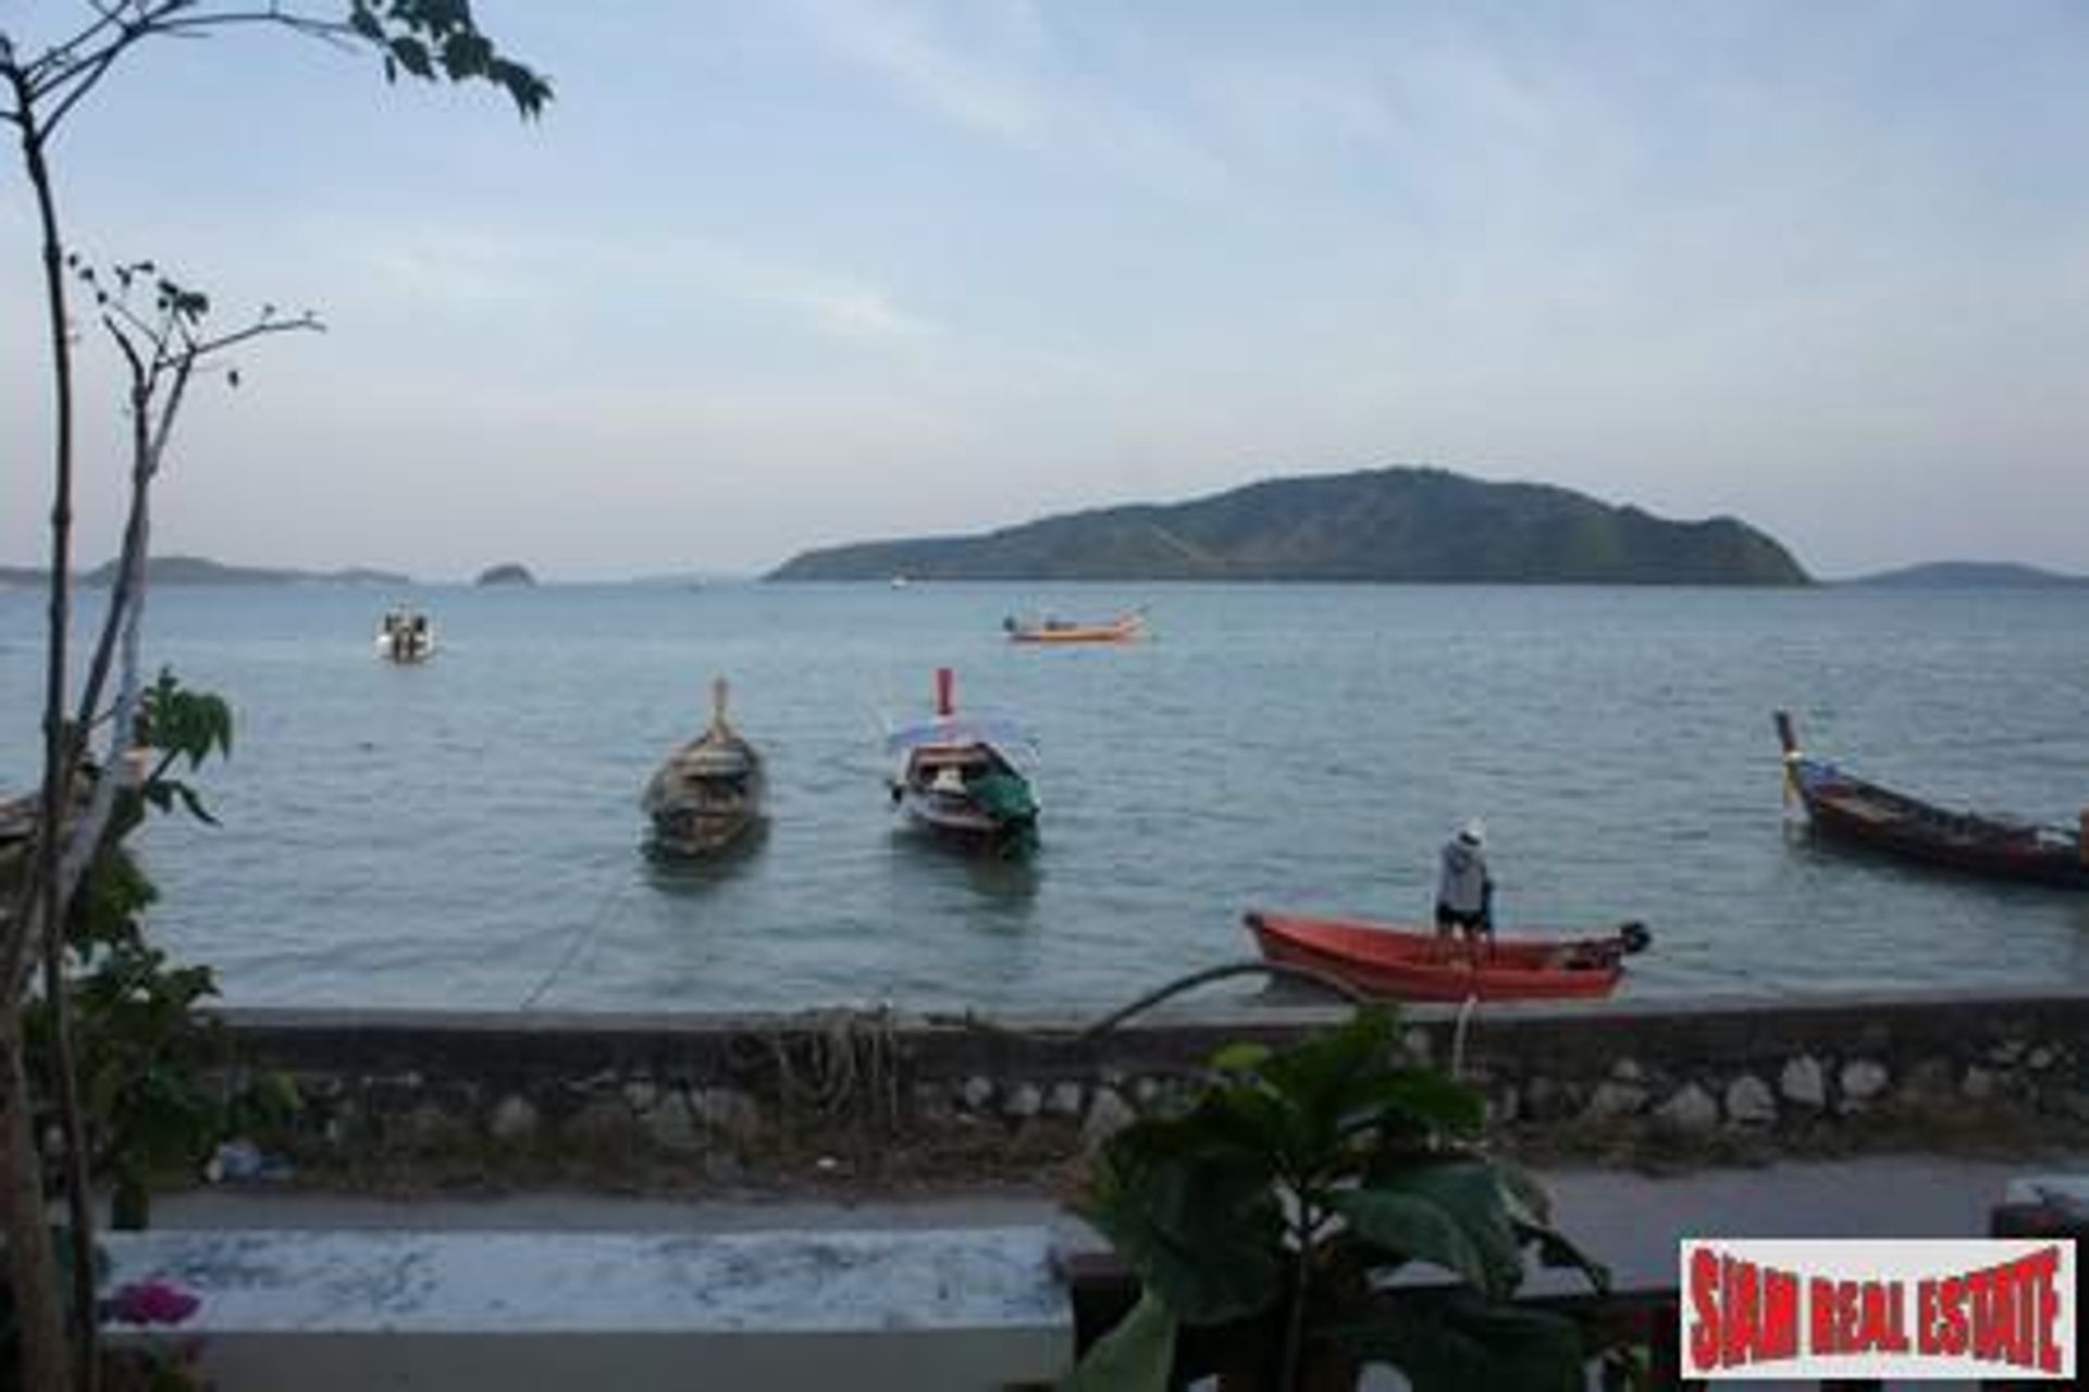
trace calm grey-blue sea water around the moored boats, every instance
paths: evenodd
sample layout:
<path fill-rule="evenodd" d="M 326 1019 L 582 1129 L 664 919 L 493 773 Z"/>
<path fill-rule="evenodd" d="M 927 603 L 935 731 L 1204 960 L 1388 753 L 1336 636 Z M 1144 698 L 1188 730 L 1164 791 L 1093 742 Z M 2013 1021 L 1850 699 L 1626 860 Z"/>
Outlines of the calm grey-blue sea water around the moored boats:
<path fill-rule="evenodd" d="M 372 657 L 389 601 L 443 651 Z M 1157 641 L 1007 645 L 1151 605 Z M 0 781 L 33 781 L 38 597 L 0 595 Z M 224 826 L 155 824 L 169 945 L 238 1004 L 988 1010 L 1241 958 L 1247 906 L 1418 918 L 1483 814 L 1504 929 L 1644 918 L 1627 991 L 2089 981 L 2089 895 L 1815 849 L 1769 710 L 1878 781 L 2072 822 L 2089 593 L 1460 586 L 169 589 L 150 649 L 228 695 Z M 1044 849 L 892 820 L 882 722 L 936 666 L 1036 733 Z M 637 793 L 714 672 L 771 760 L 729 866 L 639 854 Z"/>

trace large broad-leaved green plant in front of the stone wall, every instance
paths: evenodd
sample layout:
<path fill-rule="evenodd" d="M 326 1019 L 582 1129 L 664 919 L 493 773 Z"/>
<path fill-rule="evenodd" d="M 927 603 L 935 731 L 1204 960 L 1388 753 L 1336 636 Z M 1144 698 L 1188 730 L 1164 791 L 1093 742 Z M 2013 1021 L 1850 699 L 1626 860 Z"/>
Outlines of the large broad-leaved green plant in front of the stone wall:
<path fill-rule="evenodd" d="M 1076 1204 L 1143 1294 L 1072 1388 L 1166 1388 L 1182 1329 L 1233 1350 L 1228 1386 L 1347 1388 L 1389 1363 L 1416 1392 L 1581 1388 L 1579 1325 L 1512 1296 L 1527 1254 L 1609 1277 L 1477 1148 L 1483 1119 L 1477 1091 L 1400 1060 L 1383 1006 L 1222 1050 L 1201 1096 L 1105 1144 Z M 1450 1279 L 1393 1286 L 1418 1267 Z"/>

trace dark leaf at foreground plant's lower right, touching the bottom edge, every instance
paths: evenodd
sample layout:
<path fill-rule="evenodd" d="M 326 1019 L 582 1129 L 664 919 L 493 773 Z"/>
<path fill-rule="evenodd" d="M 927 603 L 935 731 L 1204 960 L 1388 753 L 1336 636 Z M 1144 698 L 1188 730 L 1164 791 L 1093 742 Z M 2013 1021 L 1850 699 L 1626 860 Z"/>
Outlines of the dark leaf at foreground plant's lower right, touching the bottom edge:
<path fill-rule="evenodd" d="M 1398 1367 L 1414 1392 L 1581 1392 L 1581 1331 L 1571 1319 L 1487 1304 L 1469 1292 L 1402 1296 L 1370 1323 L 1327 1331 L 1364 1359 Z"/>

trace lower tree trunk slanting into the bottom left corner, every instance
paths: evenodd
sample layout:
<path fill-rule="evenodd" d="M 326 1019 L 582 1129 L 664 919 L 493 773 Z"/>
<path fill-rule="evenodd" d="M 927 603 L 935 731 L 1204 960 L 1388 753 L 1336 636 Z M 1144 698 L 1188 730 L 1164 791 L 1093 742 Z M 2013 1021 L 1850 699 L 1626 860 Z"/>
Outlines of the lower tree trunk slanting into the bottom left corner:
<path fill-rule="evenodd" d="M 21 1006 L 0 1000 L 0 1198 L 6 1231 L 8 1279 L 15 1288 L 15 1331 L 21 1338 L 21 1386 L 29 1392 L 65 1392 L 71 1357 L 65 1340 L 65 1300 L 50 1250 L 44 1213 L 44 1162 L 36 1148 L 29 1073 L 21 1052 Z"/>

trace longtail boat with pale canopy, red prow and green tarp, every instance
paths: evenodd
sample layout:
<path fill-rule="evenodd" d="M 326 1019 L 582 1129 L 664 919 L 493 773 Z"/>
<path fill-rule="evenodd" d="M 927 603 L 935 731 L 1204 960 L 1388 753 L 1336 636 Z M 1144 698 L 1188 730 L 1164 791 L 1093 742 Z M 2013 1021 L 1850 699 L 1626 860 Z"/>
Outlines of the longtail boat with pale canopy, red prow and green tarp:
<path fill-rule="evenodd" d="M 909 822 L 973 851 L 1036 847 L 1038 803 L 1011 751 L 1030 745 L 1013 720 L 959 716 L 950 668 L 936 668 L 936 714 L 886 735 L 886 787 Z"/>

